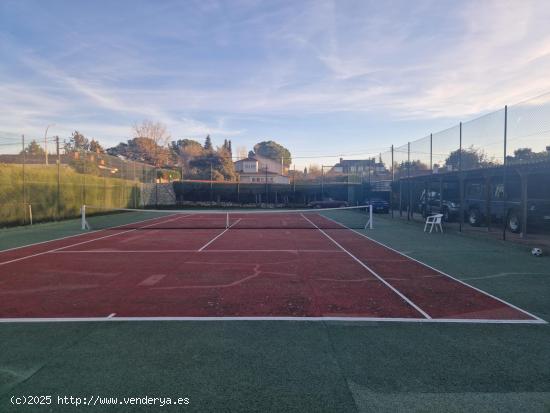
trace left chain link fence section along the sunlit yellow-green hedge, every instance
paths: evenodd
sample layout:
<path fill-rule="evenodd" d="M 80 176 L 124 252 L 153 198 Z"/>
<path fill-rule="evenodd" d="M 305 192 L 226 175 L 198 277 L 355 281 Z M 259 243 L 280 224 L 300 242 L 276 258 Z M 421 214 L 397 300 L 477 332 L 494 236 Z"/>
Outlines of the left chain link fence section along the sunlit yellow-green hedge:
<path fill-rule="evenodd" d="M 57 137 L 0 133 L 0 227 L 76 218 L 84 204 L 173 204 L 173 191 L 163 192 L 172 174 L 106 153 L 66 150 Z"/>

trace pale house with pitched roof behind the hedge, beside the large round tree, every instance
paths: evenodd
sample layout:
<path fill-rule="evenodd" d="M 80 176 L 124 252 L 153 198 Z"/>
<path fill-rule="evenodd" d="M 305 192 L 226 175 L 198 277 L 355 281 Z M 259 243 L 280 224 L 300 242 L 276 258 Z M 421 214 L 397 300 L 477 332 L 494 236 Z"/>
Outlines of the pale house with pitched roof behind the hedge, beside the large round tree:
<path fill-rule="evenodd" d="M 286 169 L 277 161 L 254 155 L 235 162 L 235 171 L 239 181 L 248 184 L 290 184 L 290 179 L 284 174 Z"/>

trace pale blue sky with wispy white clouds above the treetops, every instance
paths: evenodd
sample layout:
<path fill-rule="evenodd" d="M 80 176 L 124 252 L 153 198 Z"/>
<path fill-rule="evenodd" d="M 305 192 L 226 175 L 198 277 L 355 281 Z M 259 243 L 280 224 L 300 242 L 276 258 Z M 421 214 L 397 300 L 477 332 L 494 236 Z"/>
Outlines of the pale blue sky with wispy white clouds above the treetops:
<path fill-rule="evenodd" d="M 0 1 L 0 136 L 173 139 L 297 167 L 361 158 L 550 91 L 550 2 Z"/>

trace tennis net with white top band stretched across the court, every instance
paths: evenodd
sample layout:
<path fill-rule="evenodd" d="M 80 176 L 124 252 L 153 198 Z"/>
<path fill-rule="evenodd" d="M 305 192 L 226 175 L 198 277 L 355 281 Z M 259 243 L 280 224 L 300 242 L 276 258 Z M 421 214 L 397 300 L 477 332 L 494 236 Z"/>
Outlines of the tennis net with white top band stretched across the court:
<path fill-rule="evenodd" d="M 299 210 L 158 210 L 82 207 L 82 229 L 364 229 L 368 206 Z"/>

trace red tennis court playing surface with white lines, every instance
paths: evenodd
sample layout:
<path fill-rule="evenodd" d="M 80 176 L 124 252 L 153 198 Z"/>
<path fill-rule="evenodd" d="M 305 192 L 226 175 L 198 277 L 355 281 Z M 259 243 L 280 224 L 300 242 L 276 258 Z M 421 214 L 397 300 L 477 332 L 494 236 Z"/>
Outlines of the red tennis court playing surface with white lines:
<path fill-rule="evenodd" d="M 321 229 L 319 214 L 299 216 L 309 229 L 240 229 L 246 214 L 229 229 L 160 228 L 196 218 L 0 252 L 0 321 L 544 322 L 355 231 Z"/>

